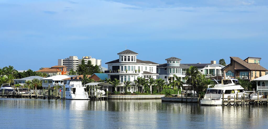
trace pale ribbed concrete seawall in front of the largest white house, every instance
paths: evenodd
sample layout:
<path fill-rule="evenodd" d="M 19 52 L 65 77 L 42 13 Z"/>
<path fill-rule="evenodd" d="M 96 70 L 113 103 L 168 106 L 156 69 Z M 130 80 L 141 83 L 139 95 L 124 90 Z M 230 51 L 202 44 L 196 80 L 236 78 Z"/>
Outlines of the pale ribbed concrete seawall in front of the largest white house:
<path fill-rule="evenodd" d="M 165 95 L 108 95 L 108 100 L 153 100 L 161 97 Z"/>

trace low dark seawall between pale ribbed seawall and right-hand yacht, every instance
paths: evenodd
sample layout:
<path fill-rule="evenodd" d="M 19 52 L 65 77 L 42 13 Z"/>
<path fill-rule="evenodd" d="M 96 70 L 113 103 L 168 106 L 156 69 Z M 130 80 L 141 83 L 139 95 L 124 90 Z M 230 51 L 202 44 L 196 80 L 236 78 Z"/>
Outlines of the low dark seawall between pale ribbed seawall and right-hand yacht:
<path fill-rule="evenodd" d="M 199 103 L 198 97 L 161 97 L 162 101 L 167 102 L 188 102 L 188 103 Z"/>

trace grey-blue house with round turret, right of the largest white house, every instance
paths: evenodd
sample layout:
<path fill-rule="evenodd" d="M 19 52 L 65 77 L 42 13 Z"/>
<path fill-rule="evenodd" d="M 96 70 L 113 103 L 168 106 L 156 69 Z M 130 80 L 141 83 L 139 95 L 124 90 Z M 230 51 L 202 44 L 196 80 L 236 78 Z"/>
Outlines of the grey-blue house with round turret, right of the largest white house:
<path fill-rule="evenodd" d="M 176 57 L 170 57 L 168 59 L 165 59 L 167 63 L 160 64 L 157 66 L 157 79 L 163 79 L 167 83 L 172 82 L 174 78 L 174 74 L 178 77 L 181 77 L 181 81 L 185 82 L 185 75 L 187 69 L 189 69 L 190 66 L 186 66 L 183 64 L 180 64 L 181 59 Z"/>

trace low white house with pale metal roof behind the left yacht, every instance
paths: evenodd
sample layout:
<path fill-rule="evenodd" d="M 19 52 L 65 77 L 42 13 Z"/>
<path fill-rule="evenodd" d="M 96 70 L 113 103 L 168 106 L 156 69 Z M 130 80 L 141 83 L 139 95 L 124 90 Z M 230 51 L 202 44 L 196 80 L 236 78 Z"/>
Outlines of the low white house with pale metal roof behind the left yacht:
<path fill-rule="evenodd" d="M 42 78 L 42 87 L 43 89 L 48 89 L 50 87 L 58 85 L 63 86 L 66 84 L 66 78 L 75 77 L 77 75 L 55 75 L 47 78 Z"/>

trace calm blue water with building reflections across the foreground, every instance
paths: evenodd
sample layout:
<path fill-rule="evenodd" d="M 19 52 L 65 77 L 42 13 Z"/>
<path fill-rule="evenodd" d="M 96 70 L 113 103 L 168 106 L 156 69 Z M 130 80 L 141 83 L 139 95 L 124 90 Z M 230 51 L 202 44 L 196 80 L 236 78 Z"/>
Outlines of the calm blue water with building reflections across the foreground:
<path fill-rule="evenodd" d="M 0 98 L 1 128 L 267 128 L 263 106 Z"/>

